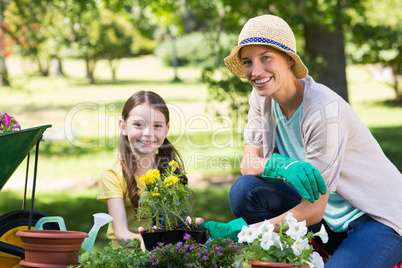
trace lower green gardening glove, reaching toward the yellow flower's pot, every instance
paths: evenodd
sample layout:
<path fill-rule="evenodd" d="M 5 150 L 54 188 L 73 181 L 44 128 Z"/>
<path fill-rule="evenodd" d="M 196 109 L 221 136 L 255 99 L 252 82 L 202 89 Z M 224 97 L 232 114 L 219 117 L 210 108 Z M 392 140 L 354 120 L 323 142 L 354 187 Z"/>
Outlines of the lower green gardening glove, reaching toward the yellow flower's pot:
<path fill-rule="evenodd" d="M 248 226 L 243 218 L 232 220 L 228 223 L 207 221 L 200 224 L 200 228 L 207 229 L 212 239 L 222 237 L 223 239 L 230 238 L 237 242 L 237 235 L 240 233 L 243 226 Z"/>

